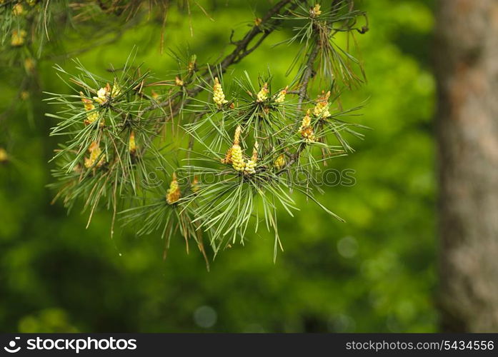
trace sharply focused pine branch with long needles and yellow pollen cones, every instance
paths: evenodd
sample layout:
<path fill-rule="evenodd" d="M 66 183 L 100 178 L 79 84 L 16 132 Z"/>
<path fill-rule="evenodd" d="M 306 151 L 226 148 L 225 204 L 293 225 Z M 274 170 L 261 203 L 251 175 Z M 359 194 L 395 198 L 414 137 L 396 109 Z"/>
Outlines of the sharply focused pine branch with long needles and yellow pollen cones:
<path fill-rule="evenodd" d="M 281 246 L 277 211 L 284 208 L 292 216 L 299 209 L 292 188 L 337 218 L 314 198 L 313 191 L 321 190 L 311 178 L 299 183 L 292 174 L 303 169 L 311 177 L 327 159 L 352 150 L 343 132 L 362 136 L 354 131 L 355 124 L 342 120 L 355 115 L 352 112 L 359 107 L 331 108 L 340 91 L 330 98 L 331 91 L 326 89 L 310 100 L 315 76 L 323 75 L 329 88 L 336 86 L 333 79 L 342 79 L 347 89 L 362 82 L 354 73 L 360 62 L 334 39 L 336 32 L 348 36 L 357 31 L 356 21 L 363 13 L 350 4 L 351 0 L 336 0 L 332 8 L 320 4 L 310 8 L 307 1 L 279 1 L 239 41 L 234 41 L 232 31 L 234 49 L 216 66 L 199 71 L 195 56 L 185 61 L 173 53 L 180 65 L 174 81 L 150 81 L 148 72 L 132 64 L 133 54 L 123 69 L 112 71 L 113 79 L 91 74 L 79 65 L 80 75 L 66 82 L 76 95 L 52 94 L 49 99 L 66 107 L 49 114 L 60 120 L 52 135 L 69 136 L 54 158 L 58 159 L 54 177 L 59 178 L 54 188 L 59 188 L 69 208 L 84 198 L 91 214 L 101 198 L 114 212 L 116 201 L 124 208 L 130 204 L 121 211 L 122 221 L 136 223 L 138 234 L 162 230 L 169 246 L 169 239 L 179 231 L 186 243 L 196 241 L 203 254 L 201 233 L 209 237 L 216 254 L 236 240 L 244 243 L 253 220 L 256 230 L 264 222 L 274 231 L 277 251 Z M 222 74 L 252 54 L 284 20 L 302 21 L 302 26 L 292 27 L 297 34 L 284 41 L 300 44 L 291 66 L 299 66 L 294 79 L 275 89 L 270 71 L 259 76 L 257 84 L 245 72 L 234 79 L 236 90 L 225 94 L 229 87 Z M 171 89 L 162 94 L 143 90 L 154 86 Z M 196 98 L 202 91 L 212 96 Z M 287 94 L 297 97 L 289 99 Z M 179 128 L 189 134 L 188 142 L 175 135 L 159 148 L 157 144 L 164 141 L 155 138 L 175 117 L 184 121 Z M 167 155 L 166 147 L 171 147 Z M 314 157 L 319 149 L 322 158 Z M 178 151 L 186 151 L 186 157 Z M 157 186 L 148 180 L 149 173 L 159 173 L 159 169 L 164 169 L 161 176 L 165 175 L 169 188 L 162 184 L 164 180 Z"/>

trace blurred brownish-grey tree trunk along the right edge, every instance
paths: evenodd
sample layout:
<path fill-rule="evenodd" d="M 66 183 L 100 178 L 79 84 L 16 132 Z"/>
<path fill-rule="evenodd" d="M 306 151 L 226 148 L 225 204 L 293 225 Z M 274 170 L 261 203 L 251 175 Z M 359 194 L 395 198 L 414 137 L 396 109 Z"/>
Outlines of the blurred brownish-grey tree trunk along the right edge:
<path fill-rule="evenodd" d="M 444 331 L 498 331 L 498 1 L 439 0 Z"/>

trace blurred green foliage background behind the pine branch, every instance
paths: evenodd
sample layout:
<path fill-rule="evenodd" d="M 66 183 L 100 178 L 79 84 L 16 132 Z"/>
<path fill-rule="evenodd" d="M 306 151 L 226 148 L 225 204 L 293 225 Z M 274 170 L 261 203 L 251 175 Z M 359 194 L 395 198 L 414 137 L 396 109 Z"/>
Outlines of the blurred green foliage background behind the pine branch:
<path fill-rule="evenodd" d="M 185 15 L 172 12 L 165 46 L 188 45 L 199 61 L 214 61 L 229 51 L 230 29 L 244 33 L 268 6 L 207 4 L 214 22 L 193 9 L 194 36 Z M 328 187 L 321 197 L 347 223 L 299 201 L 296 218 L 280 215 L 284 252 L 277 263 L 264 231 L 219 254 L 207 272 L 198 253 L 185 253 L 182 238 L 163 261 L 157 235 L 119 231 L 111 239 L 110 213 L 99 211 L 85 229 L 85 214 L 50 204 L 47 161 L 56 139 L 47 136 L 54 122 L 44 117 L 53 110 L 44 94 L 12 111 L 7 149 L 14 162 L 0 166 L 1 331 L 437 331 L 432 1 L 364 0 L 359 7 L 370 20 L 370 31 L 357 36 L 368 83 L 345 94 L 344 106 L 368 99 L 357 120 L 372 131 L 352 140 L 355 154 L 330 163 L 354 169 L 356 185 Z M 137 61 L 164 78 L 176 64 L 159 54 L 159 33 L 160 24 L 144 21 L 78 58 L 105 74 L 138 45 Z M 62 44 L 68 51 L 83 46 L 71 36 Z M 256 78 L 269 67 L 284 86 L 295 48 L 272 45 L 287 36 L 272 34 L 227 76 L 246 70 Z M 44 61 L 39 85 L 67 91 L 55 63 L 74 69 L 71 61 Z M 0 69 L 2 110 L 17 100 L 15 70 Z"/>

